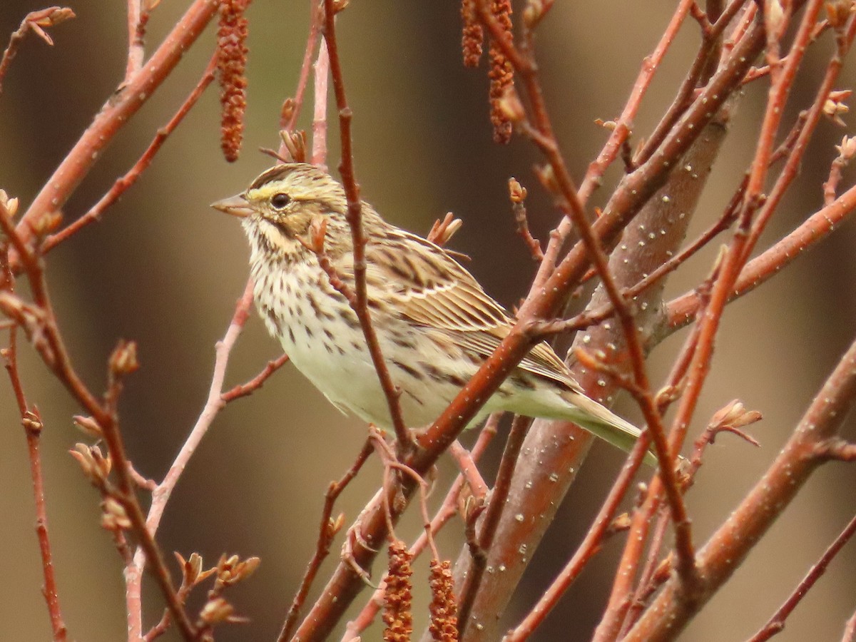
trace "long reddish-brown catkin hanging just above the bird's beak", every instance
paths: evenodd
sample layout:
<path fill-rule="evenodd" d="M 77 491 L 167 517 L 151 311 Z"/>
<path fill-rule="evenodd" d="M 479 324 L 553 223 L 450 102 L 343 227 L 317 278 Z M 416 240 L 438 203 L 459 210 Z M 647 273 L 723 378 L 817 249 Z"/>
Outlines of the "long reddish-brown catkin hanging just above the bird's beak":
<path fill-rule="evenodd" d="M 217 29 L 217 69 L 220 72 L 220 146 L 234 163 L 241 152 L 244 111 L 247 110 L 247 18 L 250 0 L 220 0 Z"/>

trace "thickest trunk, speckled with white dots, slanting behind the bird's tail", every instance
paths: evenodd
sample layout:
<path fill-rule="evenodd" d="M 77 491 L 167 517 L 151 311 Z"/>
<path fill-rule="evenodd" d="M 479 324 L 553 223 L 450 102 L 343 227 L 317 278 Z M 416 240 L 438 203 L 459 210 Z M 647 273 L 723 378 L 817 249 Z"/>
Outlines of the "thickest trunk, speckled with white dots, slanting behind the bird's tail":
<path fill-rule="evenodd" d="M 704 128 L 698 143 L 682 163 L 685 168 L 671 175 L 667 186 L 643 208 L 636 223 L 627 228 L 609 261 L 610 270 L 619 279 L 619 285 L 639 282 L 643 275 L 650 274 L 658 265 L 662 265 L 669 258 L 669 253 L 680 245 L 725 134 L 722 122 L 717 121 L 715 125 Z M 654 233 L 653 238 L 649 236 L 651 233 Z M 639 243 L 644 244 L 644 253 L 639 253 Z M 637 310 L 636 323 L 644 329 L 646 340 L 660 323 L 660 301 L 664 287 L 665 282 L 661 280 L 633 296 L 632 303 Z M 607 294 L 598 289 L 588 309 L 600 310 L 608 303 Z M 627 363 L 626 348 L 622 341 L 621 327 L 609 319 L 587 330 L 585 334 L 578 335 L 574 346 L 601 350 L 604 361 L 620 366 Z M 615 382 L 607 381 L 602 373 L 586 371 L 579 365 L 573 372 L 590 395 L 603 398 L 615 393 Z M 488 563 L 494 568 L 504 564 L 506 571 L 496 575 L 479 594 L 473 615 L 481 628 L 477 632 L 476 627 L 470 627 L 467 639 L 496 639 L 498 631 L 494 615 L 501 613 L 508 603 L 514 586 L 520 581 L 520 576 L 544 537 L 551 518 L 573 484 L 592 440 L 588 432 L 563 422 L 538 419 L 533 425 L 518 463 L 508 512 L 499 526 L 494 550 L 490 551 Z M 511 519 L 511 516 L 520 513 L 537 515 L 538 518 L 530 517 L 522 522 Z M 597 541 L 596 538 L 594 543 Z M 518 552 L 521 546 L 526 547 L 523 560 Z M 592 541 L 586 538 L 583 550 L 591 546 Z M 580 568 L 576 567 L 590 558 L 590 553 L 585 552 L 574 557 L 570 565 L 573 570 L 568 572 L 570 578 L 562 580 L 565 586 L 579 573 Z M 459 576 L 466 573 L 467 568 L 466 564 L 462 565 Z M 555 599 L 556 592 L 553 591 L 549 597 L 545 597 L 544 606 L 551 605 Z M 525 625 L 529 626 L 532 626 L 531 621 Z"/>

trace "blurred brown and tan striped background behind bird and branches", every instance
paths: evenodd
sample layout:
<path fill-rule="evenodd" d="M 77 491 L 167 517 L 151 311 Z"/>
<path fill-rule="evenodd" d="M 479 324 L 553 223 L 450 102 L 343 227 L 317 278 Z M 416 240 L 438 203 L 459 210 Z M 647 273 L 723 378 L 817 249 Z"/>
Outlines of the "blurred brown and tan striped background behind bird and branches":
<path fill-rule="evenodd" d="M 155 11 L 150 51 L 186 4 L 164 2 Z M 208 204 L 241 190 L 270 164 L 255 149 L 276 146 L 279 108 L 297 80 L 308 4 L 259 0 L 249 11 L 248 127 L 238 163 L 228 165 L 219 152 L 217 92 L 209 91 L 104 221 L 58 248 L 49 260 L 62 330 L 80 372 L 94 389 L 103 384 L 104 363 L 116 340 L 139 342 L 142 368 L 123 395 L 122 425 L 134 463 L 154 479 L 165 472 L 205 401 L 214 343 L 223 336 L 247 279 L 247 244 L 238 224 Z M 53 48 L 28 39 L 0 96 L 0 187 L 20 197 L 25 207 L 124 73 L 125 3 L 71 0 L 69 5 L 77 19 L 52 32 Z M 539 31 L 550 110 L 577 177 L 605 140 L 592 121 L 617 115 L 672 5 L 556 3 Z M 33 0 L 0 3 L 0 41 L 27 11 L 42 6 Z M 473 257 L 471 269 L 490 293 L 514 305 L 526 293 L 533 266 L 514 235 L 505 184 L 514 175 L 535 187 L 531 166 L 536 157 L 519 140 L 508 148 L 490 142 L 486 73 L 484 68 L 461 66 L 458 3 L 354 2 L 338 24 L 354 109 L 356 171 L 366 199 L 391 221 L 420 233 L 446 211 L 455 211 L 466 224 L 453 246 Z M 195 84 L 213 42 L 209 28 L 117 136 L 68 203 L 68 220 L 86 211 L 134 163 Z M 818 48 L 824 56 L 830 43 L 827 38 Z M 651 130 L 668 104 L 696 44 L 693 25 L 687 25 L 657 74 L 637 136 Z M 809 64 L 815 72 L 803 78 L 814 80 L 803 80 L 792 100 L 800 107 L 813 96 L 823 68 L 817 55 Z M 758 130 L 765 91 L 766 85 L 758 83 L 748 92 L 691 234 L 722 210 L 751 158 L 748 146 Z M 786 121 L 788 126 L 792 120 Z M 306 118 L 303 122 L 308 124 Z M 835 156 L 832 146 L 844 133 L 829 123 L 822 125 L 800 180 L 762 246 L 817 209 L 820 183 Z M 330 140 L 336 136 L 331 132 Z M 330 165 L 335 167 L 337 161 L 334 150 Z M 556 213 L 537 188 L 531 193 L 533 232 L 544 239 Z M 598 193 L 595 204 L 607 193 Z M 751 449 L 725 436 L 710 452 L 688 498 L 699 542 L 776 455 L 852 340 L 854 248 L 856 229 L 850 223 L 773 282 L 728 308 L 698 425 L 740 397 L 764 413 L 764 422 L 753 427 L 764 448 Z M 707 252 L 693 260 L 670 283 L 669 292 L 678 294 L 692 286 L 706 272 L 710 258 Z M 653 355 L 655 377 L 663 376 L 682 336 L 665 342 Z M 258 372 L 265 360 L 276 356 L 277 348 L 253 318 L 235 350 L 228 383 Z M 98 527 L 97 493 L 66 454 L 83 441 L 70 420 L 77 408 L 26 345 L 21 352 L 29 400 L 45 417 L 50 529 L 70 637 L 92 642 L 125 639 L 122 566 L 107 533 Z M 619 411 L 638 418 L 627 400 Z M 49 639 L 25 442 L 5 381 L 0 383 L 0 424 L 5 436 L 0 449 L 0 639 Z M 850 426 L 849 434 L 856 437 L 853 419 Z M 324 490 L 353 461 L 363 437 L 359 422 L 342 417 L 289 366 L 260 393 L 235 402 L 217 419 L 181 479 L 158 534 L 163 550 L 185 556 L 197 550 L 206 562 L 215 562 L 222 552 L 262 558 L 253 580 L 231 592 L 252 623 L 222 629 L 217 639 L 275 639 L 315 543 Z M 607 447 L 594 449 L 509 609 L 509 625 L 519 620 L 574 550 L 620 459 Z M 441 473 L 444 479 L 452 473 L 448 462 Z M 348 522 L 378 479 L 377 465 L 372 464 L 348 490 L 340 504 Z M 682 639 L 738 640 L 751 635 L 852 516 L 854 482 L 856 471 L 841 464 L 817 473 Z M 404 533 L 417 530 L 413 518 L 402 526 Z M 455 524 L 441 540 L 444 554 L 453 559 L 459 531 Z M 587 639 L 603 608 L 620 547 L 617 540 L 609 544 L 536 639 Z M 851 544 L 778 639 L 838 639 L 843 622 L 856 608 L 854 569 L 856 550 Z M 149 587 L 149 623 L 159 616 L 159 604 L 157 592 Z M 369 633 L 366 639 L 379 639 L 379 633 Z"/>

